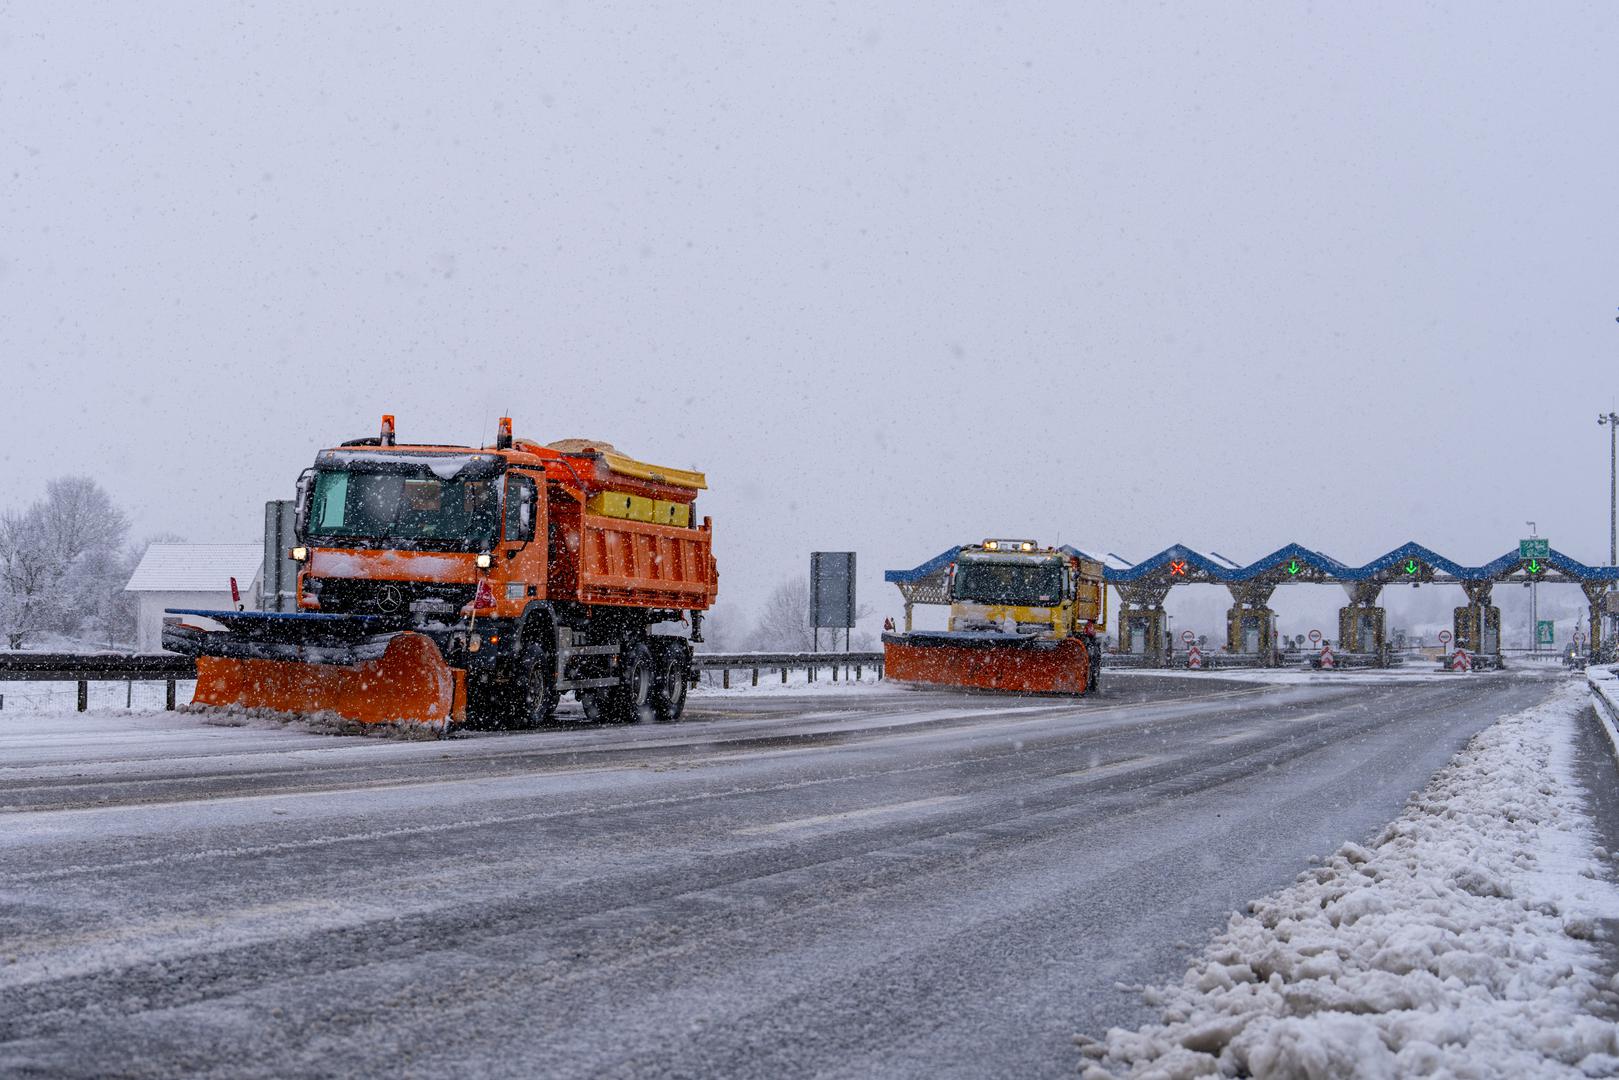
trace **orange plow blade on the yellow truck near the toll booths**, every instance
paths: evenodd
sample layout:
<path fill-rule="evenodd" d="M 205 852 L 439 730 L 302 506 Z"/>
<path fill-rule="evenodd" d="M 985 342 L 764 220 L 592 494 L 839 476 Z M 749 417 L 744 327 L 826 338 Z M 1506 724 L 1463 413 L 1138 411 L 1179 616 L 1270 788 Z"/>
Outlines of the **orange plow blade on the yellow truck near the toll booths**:
<path fill-rule="evenodd" d="M 1080 638 L 1007 640 L 981 633 L 886 633 L 884 678 L 928 687 L 1081 695 L 1091 654 Z"/>

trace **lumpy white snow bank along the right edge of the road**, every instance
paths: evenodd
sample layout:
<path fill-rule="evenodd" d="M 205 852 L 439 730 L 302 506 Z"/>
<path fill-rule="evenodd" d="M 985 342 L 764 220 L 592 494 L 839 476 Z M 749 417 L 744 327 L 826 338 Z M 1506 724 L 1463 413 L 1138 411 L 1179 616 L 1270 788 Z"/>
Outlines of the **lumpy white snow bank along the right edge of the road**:
<path fill-rule="evenodd" d="M 1611 1077 L 1591 944 L 1619 916 L 1580 805 L 1583 685 L 1475 737 L 1368 847 L 1234 915 L 1159 1025 L 1077 1036 L 1104 1077 Z M 1611 1012 L 1609 1012 L 1611 1015 Z"/>

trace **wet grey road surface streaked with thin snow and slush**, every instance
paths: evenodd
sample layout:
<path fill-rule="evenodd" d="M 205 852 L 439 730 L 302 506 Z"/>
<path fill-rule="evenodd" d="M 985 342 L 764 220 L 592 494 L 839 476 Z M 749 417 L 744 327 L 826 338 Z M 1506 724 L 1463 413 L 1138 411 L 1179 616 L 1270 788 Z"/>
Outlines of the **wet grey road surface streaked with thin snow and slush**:
<path fill-rule="evenodd" d="M 0 712 L 0 1075 L 1072 1077 L 1566 677 L 693 698 L 450 742 Z"/>

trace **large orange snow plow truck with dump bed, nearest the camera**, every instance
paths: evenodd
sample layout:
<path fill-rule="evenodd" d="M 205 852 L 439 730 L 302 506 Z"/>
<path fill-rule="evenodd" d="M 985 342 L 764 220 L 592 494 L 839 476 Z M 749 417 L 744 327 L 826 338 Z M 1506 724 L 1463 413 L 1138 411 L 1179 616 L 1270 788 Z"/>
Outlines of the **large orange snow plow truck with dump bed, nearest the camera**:
<path fill-rule="evenodd" d="M 298 479 L 296 612 L 170 609 L 196 704 L 439 730 L 526 727 L 573 691 L 593 722 L 677 721 L 714 602 L 701 473 L 610 444 L 382 434 Z"/>

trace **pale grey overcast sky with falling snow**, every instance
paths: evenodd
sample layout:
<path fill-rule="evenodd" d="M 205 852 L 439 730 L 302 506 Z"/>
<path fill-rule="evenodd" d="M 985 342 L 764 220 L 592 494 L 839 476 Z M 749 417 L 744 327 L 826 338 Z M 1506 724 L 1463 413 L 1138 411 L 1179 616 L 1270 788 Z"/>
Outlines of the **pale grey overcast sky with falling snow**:
<path fill-rule="evenodd" d="M 1608 555 L 1613 5 L 0 5 L 0 504 L 588 436 L 811 549 Z"/>

